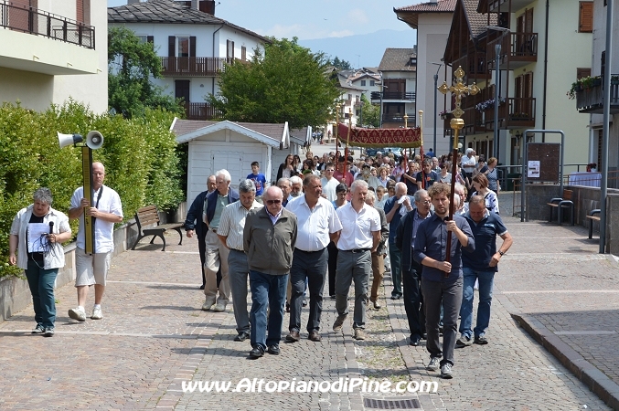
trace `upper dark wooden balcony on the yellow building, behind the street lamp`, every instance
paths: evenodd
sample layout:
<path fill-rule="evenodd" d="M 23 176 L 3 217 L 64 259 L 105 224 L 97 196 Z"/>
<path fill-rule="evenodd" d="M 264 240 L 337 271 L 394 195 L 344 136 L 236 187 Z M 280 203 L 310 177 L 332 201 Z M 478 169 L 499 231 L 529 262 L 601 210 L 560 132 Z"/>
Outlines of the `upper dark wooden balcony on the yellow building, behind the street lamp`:
<path fill-rule="evenodd" d="M 495 69 L 495 45 L 501 44 L 499 69 L 515 69 L 538 61 L 538 34 L 537 33 L 509 33 L 507 36 L 497 37 L 488 42 L 488 68 Z M 508 50 L 508 52 L 507 52 Z"/>

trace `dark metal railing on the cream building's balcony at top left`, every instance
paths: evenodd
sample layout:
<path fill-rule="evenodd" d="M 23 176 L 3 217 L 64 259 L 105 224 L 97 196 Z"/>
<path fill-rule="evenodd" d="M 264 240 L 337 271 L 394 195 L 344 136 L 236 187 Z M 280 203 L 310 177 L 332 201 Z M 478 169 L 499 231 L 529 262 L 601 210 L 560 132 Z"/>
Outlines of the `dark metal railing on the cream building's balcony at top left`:
<path fill-rule="evenodd" d="M 80 47 L 94 48 L 94 26 L 33 7 L 0 4 L 0 26 Z"/>

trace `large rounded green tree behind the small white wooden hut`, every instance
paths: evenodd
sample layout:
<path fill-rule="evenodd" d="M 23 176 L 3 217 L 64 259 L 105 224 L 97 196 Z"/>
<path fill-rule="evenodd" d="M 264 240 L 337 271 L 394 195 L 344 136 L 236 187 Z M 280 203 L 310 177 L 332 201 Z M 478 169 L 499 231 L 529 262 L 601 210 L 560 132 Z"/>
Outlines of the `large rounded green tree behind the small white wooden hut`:
<path fill-rule="evenodd" d="M 271 38 L 254 50 L 250 63 L 236 62 L 219 78 L 219 93 L 208 101 L 231 121 L 282 123 L 290 128 L 325 124 L 339 95 L 326 77 L 322 53 L 293 40 Z"/>

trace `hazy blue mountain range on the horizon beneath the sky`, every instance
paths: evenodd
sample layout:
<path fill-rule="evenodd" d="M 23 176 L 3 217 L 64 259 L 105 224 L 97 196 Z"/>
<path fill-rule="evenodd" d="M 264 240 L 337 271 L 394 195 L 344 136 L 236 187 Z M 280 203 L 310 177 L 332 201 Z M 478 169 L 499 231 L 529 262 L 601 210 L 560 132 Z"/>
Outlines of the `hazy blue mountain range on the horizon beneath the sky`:
<path fill-rule="evenodd" d="M 379 67 L 386 48 L 413 48 L 416 30 L 379 30 L 374 33 L 347 37 L 298 40 L 300 46 L 313 52 L 322 51 L 327 57 L 346 60 L 353 68 Z"/>

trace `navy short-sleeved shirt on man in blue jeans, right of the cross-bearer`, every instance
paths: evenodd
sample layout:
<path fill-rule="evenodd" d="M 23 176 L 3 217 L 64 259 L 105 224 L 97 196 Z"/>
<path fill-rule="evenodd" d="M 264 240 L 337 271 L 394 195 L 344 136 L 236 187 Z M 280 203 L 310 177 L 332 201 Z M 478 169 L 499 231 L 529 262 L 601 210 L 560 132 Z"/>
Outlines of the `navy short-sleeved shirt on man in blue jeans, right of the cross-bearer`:
<path fill-rule="evenodd" d="M 504 236 L 507 227 L 501 217 L 486 210 L 486 216 L 479 222 L 471 218 L 469 213 L 464 215 L 468 221 L 473 237 L 475 237 L 475 251 L 462 254 L 462 263 L 466 269 L 477 271 L 498 271 L 498 266 L 490 267 L 490 260 L 496 254 L 496 236 Z"/>

